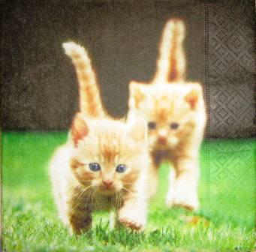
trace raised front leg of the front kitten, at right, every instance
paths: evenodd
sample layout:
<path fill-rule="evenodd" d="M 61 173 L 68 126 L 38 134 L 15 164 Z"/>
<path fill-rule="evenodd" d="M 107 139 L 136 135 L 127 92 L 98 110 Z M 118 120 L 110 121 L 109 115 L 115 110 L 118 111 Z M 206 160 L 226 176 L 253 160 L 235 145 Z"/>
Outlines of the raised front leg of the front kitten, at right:
<path fill-rule="evenodd" d="M 127 199 L 119 209 L 119 222 L 134 230 L 144 229 L 147 214 L 146 198 L 136 197 Z"/>

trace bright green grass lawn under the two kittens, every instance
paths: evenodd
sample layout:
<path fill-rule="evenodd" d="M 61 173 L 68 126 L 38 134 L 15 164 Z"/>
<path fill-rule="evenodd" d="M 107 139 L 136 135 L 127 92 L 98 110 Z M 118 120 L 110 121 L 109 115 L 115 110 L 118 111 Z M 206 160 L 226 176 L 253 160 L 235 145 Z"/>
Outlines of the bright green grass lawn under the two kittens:
<path fill-rule="evenodd" d="M 201 148 L 200 210 L 164 205 L 166 165 L 144 233 L 110 231 L 108 215 L 69 236 L 56 214 L 47 163 L 66 133 L 3 133 L 3 248 L 6 251 L 254 251 L 253 139 L 209 140 Z M 197 217 L 196 217 L 197 216 Z M 198 218 L 199 217 L 199 218 Z M 199 220 L 196 223 L 196 220 Z"/>

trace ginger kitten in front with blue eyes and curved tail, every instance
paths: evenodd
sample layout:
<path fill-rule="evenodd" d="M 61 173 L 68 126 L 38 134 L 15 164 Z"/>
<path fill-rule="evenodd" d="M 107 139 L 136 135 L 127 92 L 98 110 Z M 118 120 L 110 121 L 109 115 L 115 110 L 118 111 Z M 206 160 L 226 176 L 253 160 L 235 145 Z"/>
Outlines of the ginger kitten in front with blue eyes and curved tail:
<path fill-rule="evenodd" d="M 75 234 L 91 228 L 92 212 L 97 210 L 114 211 L 114 226 L 143 229 L 149 163 L 146 124 L 141 119 L 127 124 L 107 117 L 95 100 L 98 87 L 86 51 L 75 43 L 63 46 L 74 65 L 82 67 L 77 76 L 83 113 L 74 117 L 68 142 L 50 162 L 59 216 Z"/>

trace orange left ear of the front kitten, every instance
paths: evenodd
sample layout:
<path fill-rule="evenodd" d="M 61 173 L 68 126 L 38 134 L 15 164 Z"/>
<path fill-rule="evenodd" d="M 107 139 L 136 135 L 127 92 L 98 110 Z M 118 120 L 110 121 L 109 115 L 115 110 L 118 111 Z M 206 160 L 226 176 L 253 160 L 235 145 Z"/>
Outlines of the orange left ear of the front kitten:
<path fill-rule="evenodd" d="M 89 133 L 89 127 L 86 124 L 84 116 L 82 113 L 77 113 L 74 120 L 71 124 L 71 136 L 74 142 L 74 145 L 77 147 L 78 142 L 87 136 Z"/>

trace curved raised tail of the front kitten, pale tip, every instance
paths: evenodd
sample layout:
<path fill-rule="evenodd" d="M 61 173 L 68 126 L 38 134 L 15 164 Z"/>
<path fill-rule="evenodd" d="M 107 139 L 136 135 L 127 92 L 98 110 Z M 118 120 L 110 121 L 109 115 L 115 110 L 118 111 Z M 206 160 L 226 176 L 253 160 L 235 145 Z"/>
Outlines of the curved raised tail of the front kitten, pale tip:
<path fill-rule="evenodd" d="M 98 83 L 86 49 L 74 42 L 62 43 L 62 46 L 65 49 L 65 54 L 71 58 L 77 72 L 80 111 L 91 117 L 104 116 Z"/>

